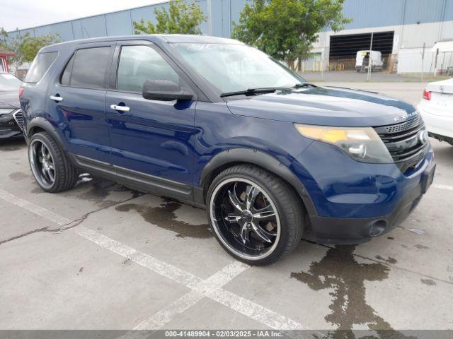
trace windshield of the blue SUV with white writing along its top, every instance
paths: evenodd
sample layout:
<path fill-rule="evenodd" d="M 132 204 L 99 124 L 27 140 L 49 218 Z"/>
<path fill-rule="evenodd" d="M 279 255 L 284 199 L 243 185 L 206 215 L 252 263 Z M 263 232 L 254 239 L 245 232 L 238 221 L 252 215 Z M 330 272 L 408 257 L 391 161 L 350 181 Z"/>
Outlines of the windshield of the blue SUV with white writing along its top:
<path fill-rule="evenodd" d="M 183 59 L 221 93 L 292 87 L 304 82 L 263 52 L 241 44 L 173 44 Z"/>

